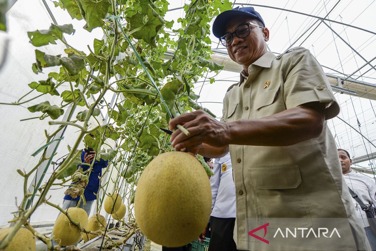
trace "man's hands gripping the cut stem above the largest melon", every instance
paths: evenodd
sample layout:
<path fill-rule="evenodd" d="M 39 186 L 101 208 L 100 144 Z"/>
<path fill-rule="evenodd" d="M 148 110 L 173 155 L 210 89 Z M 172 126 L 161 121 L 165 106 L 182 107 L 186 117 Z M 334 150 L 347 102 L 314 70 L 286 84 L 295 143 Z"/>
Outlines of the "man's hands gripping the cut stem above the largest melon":
<path fill-rule="evenodd" d="M 197 110 L 182 114 L 171 119 L 169 127 L 174 129 L 179 124 L 183 125 L 190 132 L 190 135 L 186 136 L 179 129 L 171 134 L 171 145 L 176 150 L 188 147 L 190 152 L 197 154 L 200 149 L 199 143 L 206 143 L 215 147 L 228 145 L 228 124 L 219 122 L 205 111 Z"/>

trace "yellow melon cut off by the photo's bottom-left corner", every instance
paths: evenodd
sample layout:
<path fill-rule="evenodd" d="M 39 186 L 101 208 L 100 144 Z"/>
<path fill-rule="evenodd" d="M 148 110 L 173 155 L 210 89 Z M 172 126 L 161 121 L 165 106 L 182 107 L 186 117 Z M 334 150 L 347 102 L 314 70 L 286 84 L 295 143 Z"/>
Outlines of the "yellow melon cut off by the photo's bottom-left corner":
<path fill-rule="evenodd" d="M 12 227 L 0 229 L 0 241 L 12 230 Z M 35 239 L 26 228 L 20 228 L 4 251 L 35 251 Z"/>

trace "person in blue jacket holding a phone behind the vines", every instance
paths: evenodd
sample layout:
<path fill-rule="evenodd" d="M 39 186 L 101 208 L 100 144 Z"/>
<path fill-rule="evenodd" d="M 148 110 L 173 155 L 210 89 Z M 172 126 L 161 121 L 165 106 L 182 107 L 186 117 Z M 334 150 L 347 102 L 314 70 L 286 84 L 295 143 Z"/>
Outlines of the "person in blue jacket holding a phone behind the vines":
<path fill-rule="evenodd" d="M 90 153 L 92 154 L 88 154 L 85 151 L 82 151 L 82 163 L 91 164 L 91 162 L 94 160 L 96 151 L 90 151 Z M 83 195 L 85 196 L 86 200 L 86 205 L 83 205 L 83 200 L 81 200 L 79 205 L 80 208 L 83 208 L 86 211 L 88 216 L 90 214 L 93 202 L 97 199 L 96 193 L 98 193 L 99 190 L 99 177 L 102 176 L 102 168 L 107 167 L 107 165 L 108 160 L 103 160 L 102 158 L 99 161 L 94 160 L 94 164 L 89 175 L 88 185 L 86 186 L 85 191 L 83 192 Z M 84 172 L 89 169 L 88 165 L 77 166 L 77 168 L 79 167 L 82 167 Z M 79 201 L 80 196 L 77 196 L 77 198 L 72 198 L 70 195 L 65 195 L 62 208 L 67 209 L 69 207 L 77 207 Z"/>

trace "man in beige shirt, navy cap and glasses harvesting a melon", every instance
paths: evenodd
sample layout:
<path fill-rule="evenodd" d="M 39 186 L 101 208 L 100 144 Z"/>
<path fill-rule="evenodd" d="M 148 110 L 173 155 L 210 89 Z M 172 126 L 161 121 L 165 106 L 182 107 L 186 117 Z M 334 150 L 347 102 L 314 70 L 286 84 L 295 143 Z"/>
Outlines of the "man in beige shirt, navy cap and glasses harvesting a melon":
<path fill-rule="evenodd" d="M 369 250 L 326 125 L 340 108 L 320 64 L 302 47 L 268 52 L 269 30 L 252 7 L 221 13 L 213 33 L 243 66 L 240 82 L 221 122 L 200 110 L 170 120 L 190 132 L 177 129 L 171 144 L 213 158 L 230 151 L 237 248 Z"/>

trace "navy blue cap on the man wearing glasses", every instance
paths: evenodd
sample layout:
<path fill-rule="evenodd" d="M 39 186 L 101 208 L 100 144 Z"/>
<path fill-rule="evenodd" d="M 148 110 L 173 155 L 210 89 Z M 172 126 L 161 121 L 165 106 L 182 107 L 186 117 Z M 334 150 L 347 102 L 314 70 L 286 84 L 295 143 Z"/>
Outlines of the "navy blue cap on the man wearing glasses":
<path fill-rule="evenodd" d="M 213 23 L 213 34 L 215 37 L 220 38 L 224 35 L 225 30 L 224 27 L 226 26 L 227 22 L 236 16 L 246 16 L 254 18 L 260 21 L 263 26 L 265 27 L 264 20 L 262 20 L 261 15 L 255 11 L 253 7 L 243 7 L 240 8 L 239 6 L 234 9 L 230 9 L 228 11 L 224 11 L 215 18 Z"/>

